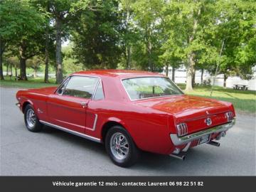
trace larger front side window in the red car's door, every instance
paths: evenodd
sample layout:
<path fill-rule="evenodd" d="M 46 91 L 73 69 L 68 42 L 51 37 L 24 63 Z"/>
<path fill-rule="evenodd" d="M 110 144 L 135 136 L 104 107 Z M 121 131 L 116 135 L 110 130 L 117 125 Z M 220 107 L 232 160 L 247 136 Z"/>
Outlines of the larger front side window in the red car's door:
<path fill-rule="evenodd" d="M 73 76 L 68 81 L 68 85 L 66 85 L 63 95 L 90 99 L 98 80 L 98 78 Z"/>

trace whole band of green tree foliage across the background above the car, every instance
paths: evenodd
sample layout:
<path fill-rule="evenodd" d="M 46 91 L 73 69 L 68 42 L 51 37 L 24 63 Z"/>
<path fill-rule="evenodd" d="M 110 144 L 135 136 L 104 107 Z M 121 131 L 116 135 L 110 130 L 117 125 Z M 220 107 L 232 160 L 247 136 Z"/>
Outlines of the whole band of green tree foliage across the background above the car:
<path fill-rule="evenodd" d="M 218 73 L 225 80 L 230 75 L 250 79 L 256 63 L 253 0 L 0 3 L 1 55 L 10 50 L 10 57 L 18 55 L 21 75 L 26 75 L 26 60 L 34 55 L 55 66 L 57 82 L 63 73 L 90 68 L 161 71 L 185 65 L 186 90 L 192 90 L 198 69 L 213 74 L 219 63 Z M 62 50 L 66 40 L 70 46 Z"/>

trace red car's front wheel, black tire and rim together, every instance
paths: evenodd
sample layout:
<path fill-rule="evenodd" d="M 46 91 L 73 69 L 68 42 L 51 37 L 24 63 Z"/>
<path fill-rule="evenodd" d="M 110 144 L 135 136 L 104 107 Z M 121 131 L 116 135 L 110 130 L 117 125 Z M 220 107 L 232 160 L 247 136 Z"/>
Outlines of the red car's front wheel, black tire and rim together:
<path fill-rule="evenodd" d="M 34 111 L 32 105 L 28 104 L 24 110 L 24 121 L 26 128 L 30 132 L 40 132 L 43 129 L 43 124 L 39 122 L 36 112 Z"/>

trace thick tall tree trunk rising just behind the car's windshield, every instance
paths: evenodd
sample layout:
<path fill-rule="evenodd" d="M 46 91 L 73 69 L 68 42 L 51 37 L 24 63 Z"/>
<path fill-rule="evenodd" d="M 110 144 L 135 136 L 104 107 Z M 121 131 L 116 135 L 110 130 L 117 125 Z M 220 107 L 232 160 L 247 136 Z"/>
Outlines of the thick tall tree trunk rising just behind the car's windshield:
<path fill-rule="evenodd" d="M 61 55 L 61 19 L 56 17 L 56 82 L 63 81 L 63 65 Z"/>

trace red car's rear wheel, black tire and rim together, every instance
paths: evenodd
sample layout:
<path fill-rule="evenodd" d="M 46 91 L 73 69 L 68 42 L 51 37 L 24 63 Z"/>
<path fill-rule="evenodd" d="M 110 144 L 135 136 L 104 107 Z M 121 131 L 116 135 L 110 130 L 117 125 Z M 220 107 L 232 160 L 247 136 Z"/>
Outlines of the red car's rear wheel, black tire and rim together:
<path fill-rule="evenodd" d="M 117 166 L 129 167 L 139 159 L 139 149 L 127 130 L 121 126 L 114 126 L 108 130 L 105 137 L 105 147 L 110 159 Z"/>

